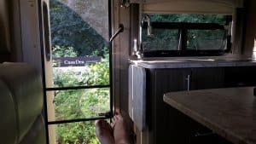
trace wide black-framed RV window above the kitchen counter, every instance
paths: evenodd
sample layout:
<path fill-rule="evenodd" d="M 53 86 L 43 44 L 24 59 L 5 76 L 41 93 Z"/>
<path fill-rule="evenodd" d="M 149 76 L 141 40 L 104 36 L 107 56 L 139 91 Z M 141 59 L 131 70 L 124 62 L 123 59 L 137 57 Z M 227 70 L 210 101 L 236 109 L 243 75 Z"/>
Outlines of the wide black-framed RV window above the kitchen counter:
<path fill-rule="evenodd" d="M 224 14 L 143 14 L 143 55 L 222 55 L 230 50 L 230 21 Z"/>

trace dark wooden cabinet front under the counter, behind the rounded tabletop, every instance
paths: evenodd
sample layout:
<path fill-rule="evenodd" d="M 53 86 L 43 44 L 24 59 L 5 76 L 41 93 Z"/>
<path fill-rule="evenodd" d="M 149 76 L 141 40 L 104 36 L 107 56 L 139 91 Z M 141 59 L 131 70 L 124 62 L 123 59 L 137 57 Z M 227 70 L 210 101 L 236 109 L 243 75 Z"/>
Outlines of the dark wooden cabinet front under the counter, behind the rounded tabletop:
<path fill-rule="evenodd" d="M 224 86 L 223 68 L 181 68 L 149 69 L 147 71 L 148 127 L 150 143 L 189 143 L 189 136 L 195 130 L 187 118 L 163 101 L 163 95 L 170 91 L 213 89 Z M 192 126 L 192 127 L 191 127 Z M 192 130 L 193 129 L 193 130 Z M 192 130 L 192 131 L 191 131 Z"/>

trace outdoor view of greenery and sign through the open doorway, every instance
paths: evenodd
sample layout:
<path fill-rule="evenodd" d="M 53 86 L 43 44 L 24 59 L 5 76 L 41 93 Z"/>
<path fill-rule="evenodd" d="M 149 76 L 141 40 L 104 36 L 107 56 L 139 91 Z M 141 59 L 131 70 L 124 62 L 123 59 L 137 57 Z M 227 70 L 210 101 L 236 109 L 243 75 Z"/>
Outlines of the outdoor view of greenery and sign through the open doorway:
<path fill-rule="evenodd" d="M 51 66 L 45 67 L 50 144 L 96 144 L 109 118 L 108 0 L 49 0 Z"/>

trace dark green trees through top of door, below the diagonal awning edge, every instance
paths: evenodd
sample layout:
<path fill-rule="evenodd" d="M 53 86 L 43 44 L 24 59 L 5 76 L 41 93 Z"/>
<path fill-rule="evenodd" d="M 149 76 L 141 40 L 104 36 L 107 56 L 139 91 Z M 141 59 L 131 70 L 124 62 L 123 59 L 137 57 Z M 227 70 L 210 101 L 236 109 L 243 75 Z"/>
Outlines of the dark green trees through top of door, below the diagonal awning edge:
<path fill-rule="evenodd" d="M 58 0 L 50 0 L 49 6 L 53 48 L 73 47 L 79 56 L 91 55 L 96 49 L 102 54 L 108 42 L 79 14 Z"/>

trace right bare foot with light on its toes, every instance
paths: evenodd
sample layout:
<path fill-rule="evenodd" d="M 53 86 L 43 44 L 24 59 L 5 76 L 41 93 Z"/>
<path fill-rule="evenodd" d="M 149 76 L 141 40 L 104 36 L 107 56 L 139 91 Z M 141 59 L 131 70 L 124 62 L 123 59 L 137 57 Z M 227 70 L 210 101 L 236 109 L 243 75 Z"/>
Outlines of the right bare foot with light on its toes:
<path fill-rule="evenodd" d="M 131 144 L 130 133 L 128 132 L 124 118 L 118 114 L 113 116 L 111 127 L 115 144 Z"/>

